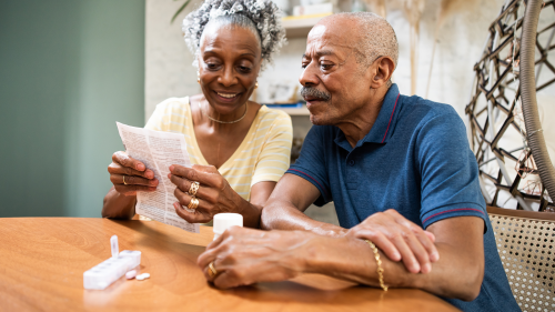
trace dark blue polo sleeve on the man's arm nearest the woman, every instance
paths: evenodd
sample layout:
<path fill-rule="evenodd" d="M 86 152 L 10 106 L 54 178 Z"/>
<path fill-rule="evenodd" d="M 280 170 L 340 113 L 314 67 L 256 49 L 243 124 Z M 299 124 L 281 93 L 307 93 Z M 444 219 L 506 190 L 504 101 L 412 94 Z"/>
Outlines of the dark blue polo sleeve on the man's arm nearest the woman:
<path fill-rule="evenodd" d="M 327 167 L 325 164 L 326 143 L 333 139 L 325 140 L 325 125 L 313 125 L 303 142 L 301 154 L 296 162 L 291 165 L 286 173 L 295 174 L 311 182 L 320 191 L 320 198 L 314 202 L 322 207 L 331 202 L 330 180 L 327 179 Z"/>

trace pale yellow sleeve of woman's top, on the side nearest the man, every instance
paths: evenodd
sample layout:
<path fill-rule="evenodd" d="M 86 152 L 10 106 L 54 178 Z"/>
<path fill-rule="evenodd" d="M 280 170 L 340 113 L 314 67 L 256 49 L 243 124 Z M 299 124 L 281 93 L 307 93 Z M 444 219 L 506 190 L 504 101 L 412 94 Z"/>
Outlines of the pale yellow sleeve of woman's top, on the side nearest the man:
<path fill-rule="evenodd" d="M 258 157 L 251 187 L 263 181 L 278 182 L 281 179 L 290 164 L 292 142 L 291 117 L 280 111 L 270 127 Z"/>

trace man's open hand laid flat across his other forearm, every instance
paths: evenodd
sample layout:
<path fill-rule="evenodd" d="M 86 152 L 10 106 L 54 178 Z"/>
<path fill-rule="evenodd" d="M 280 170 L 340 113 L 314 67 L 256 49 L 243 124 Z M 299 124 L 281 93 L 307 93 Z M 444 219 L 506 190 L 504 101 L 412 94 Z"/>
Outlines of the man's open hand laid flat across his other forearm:
<path fill-rule="evenodd" d="M 370 215 L 346 235 L 370 240 L 390 260 L 403 260 L 411 273 L 430 273 L 431 263 L 440 260 L 434 234 L 424 231 L 393 209 Z"/>

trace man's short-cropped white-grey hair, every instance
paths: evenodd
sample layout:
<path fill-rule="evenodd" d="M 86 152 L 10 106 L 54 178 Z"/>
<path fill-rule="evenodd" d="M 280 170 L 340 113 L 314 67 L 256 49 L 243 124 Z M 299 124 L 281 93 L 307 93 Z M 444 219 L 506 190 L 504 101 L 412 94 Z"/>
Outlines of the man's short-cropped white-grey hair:
<path fill-rule="evenodd" d="M 343 17 L 357 22 L 360 37 L 355 46 L 356 61 L 369 67 L 380 57 L 390 57 L 397 67 L 397 37 L 384 18 L 371 12 L 337 13 L 332 17 Z"/>

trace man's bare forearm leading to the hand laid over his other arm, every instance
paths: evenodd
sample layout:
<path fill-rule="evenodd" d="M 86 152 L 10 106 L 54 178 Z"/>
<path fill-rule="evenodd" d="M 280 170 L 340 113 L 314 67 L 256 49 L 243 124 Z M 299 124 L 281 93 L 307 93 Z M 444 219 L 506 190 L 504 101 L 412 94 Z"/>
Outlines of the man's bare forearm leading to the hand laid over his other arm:
<path fill-rule="evenodd" d="M 264 230 L 304 230 L 320 235 L 341 236 L 346 229 L 309 218 L 286 201 L 272 201 L 262 210 L 261 228 Z"/>

